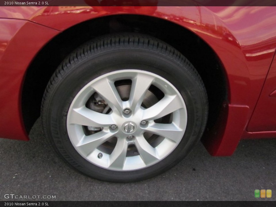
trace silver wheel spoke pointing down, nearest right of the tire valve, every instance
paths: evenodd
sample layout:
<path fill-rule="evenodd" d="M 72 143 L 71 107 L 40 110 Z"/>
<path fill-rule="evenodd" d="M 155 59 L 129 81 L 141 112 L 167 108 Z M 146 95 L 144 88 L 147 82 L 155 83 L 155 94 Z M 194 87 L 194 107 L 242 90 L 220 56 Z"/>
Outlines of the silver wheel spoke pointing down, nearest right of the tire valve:
<path fill-rule="evenodd" d="M 125 139 L 117 139 L 116 146 L 109 157 L 109 167 L 122 170 L 127 156 L 128 143 Z"/>

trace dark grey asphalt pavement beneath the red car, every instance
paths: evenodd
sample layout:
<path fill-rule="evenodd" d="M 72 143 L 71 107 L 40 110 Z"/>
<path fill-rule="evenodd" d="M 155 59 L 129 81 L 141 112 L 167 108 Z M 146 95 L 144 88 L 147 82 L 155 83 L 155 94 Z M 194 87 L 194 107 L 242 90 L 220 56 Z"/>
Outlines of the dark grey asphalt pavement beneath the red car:
<path fill-rule="evenodd" d="M 212 157 L 198 143 L 174 168 L 135 183 L 99 181 L 70 168 L 48 146 L 40 119 L 30 141 L 0 139 L 0 146 L 0 201 L 276 201 L 276 139 L 242 140 L 231 157 Z M 254 198 L 255 189 L 271 189 L 272 198 Z"/>

